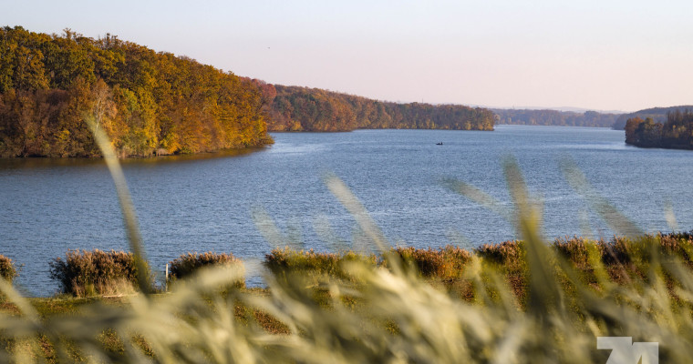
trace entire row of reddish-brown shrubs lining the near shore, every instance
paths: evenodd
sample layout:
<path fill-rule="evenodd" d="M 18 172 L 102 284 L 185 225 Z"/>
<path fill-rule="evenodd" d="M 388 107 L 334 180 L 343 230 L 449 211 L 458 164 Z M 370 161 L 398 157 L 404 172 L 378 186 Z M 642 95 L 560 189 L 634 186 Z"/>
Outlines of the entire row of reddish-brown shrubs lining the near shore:
<path fill-rule="evenodd" d="M 594 283 L 595 264 L 603 265 L 608 278 L 615 283 L 624 283 L 631 278 L 646 278 L 649 258 L 653 249 L 665 257 L 676 256 L 693 267 L 693 230 L 681 233 L 659 233 L 638 238 L 612 238 L 592 240 L 586 238 L 556 238 L 550 245 L 557 257 L 571 264 L 587 283 Z M 466 275 L 474 257 L 483 264 L 501 271 L 512 292 L 520 302 L 526 299 L 528 267 L 522 240 L 485 244 L 466 250 L 459 247 L 444 248 L 392 248 L 394 253 L 408 264 L 419 278 L 473 299 L 471 281 Z M 295 273 L 315 280 L 330 277 L 349 280 L 345 271 L 348 262 L 361 262 L 369 266 L 388 268 L 383 254 L 343 251 L 337 253 L 316 252 L 313 249 L 295 250 L 275 248 L 264 258 L 264 267 L 274 278 L 285 278 Z M 164 291 L 169 283 L 191 277 L 199 268 L 215 265 L 243 265 L 243 261 L 231 253 L 189 252 L 169 263 L 170 270 Z M 132 253 L 123 251 L 70 250 L 64 258 L 50 262 L 51 278 L 57 281 L 62 293 L 78 298 L 112 296 L 133 293 L 138 286 L 138 272 Z M 156 286 L 154 275 L 148 272 L 152 286 Z M 16 268 L 11 259 L 0 256 L 0 276 L 12 280 Z M 243 280 L 236 283 L 244 287 Z"/>

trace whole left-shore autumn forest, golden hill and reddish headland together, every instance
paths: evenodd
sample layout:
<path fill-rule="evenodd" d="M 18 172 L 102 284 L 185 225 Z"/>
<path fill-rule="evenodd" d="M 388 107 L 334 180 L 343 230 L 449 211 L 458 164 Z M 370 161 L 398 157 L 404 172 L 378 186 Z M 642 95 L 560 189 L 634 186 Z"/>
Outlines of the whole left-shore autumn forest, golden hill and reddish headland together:
<path fill-rule="evenodd" d="M 0 49 L 0 157 L 97 157 L 88 122 L 122 157 L 263 146 L 268 131 L 493 129 L 484 108 L 274 86 L 113 35 L 5 26 Z"/>

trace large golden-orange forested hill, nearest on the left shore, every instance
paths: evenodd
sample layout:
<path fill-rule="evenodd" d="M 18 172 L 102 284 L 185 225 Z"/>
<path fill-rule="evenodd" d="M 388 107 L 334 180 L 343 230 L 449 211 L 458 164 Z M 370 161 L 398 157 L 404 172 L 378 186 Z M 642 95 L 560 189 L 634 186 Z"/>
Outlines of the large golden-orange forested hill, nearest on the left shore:
<path fill-rule="evenodd" d="M 86 120 L 121 156 L 271 143 L 262 82 L 116 36 L 0 29 L 0 157 L 98 156 Z"/>

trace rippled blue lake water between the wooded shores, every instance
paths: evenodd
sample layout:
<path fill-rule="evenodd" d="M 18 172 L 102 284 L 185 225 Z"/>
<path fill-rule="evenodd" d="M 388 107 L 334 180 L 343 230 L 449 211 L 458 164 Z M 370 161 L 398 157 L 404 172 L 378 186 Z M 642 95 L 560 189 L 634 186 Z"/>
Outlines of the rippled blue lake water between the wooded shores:
<path fill-rule="evenodd" d="M 257 260 L 273 247 L 255 227 L 266 211 L 287 239 L 328 250 L 326 226 L 348 244 L 355 220 L 327 189 L 340 177 L 393 245 L 471 248 L 519 238 L 502 217 L 446 187 L 450 178 L 512 207 L 503 160 L 514 157 L 543 201 L 549 239 L 613 232 L 566 182 L 572 159 L 591 185 L 647 232 L 693 228 L 693 152 L 626 146 L 605 128 L 496 126 L 493 132 L 357 130 L 273 134 L 271 147 L 232 154 L 124 161 L 152 268 L 189 251 Z M 442 145 L 437 145 L 442 143 Z M 21 265 L 28 296 L 57 291 L 48 262 L 68 249 L 127 249 L 113 183 L 101 160 L 0 160 L 0 254 Z M 317 228 L 316 228 L 317 227 Z M 316 232 L 319 231 L 321 233 Z M 257 276 L 249 284 L 261 284 Z"/>

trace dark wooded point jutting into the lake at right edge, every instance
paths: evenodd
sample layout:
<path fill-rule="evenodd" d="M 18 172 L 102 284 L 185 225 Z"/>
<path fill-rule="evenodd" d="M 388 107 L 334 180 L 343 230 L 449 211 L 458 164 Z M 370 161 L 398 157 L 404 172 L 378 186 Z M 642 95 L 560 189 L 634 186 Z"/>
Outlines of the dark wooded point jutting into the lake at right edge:
<path fill-rule="evenodd" d="M 678 109 L 669 112 L 664 123 L 657 123 L 652 117 L 630 118 L 626 121 L 626 144 L 693 149 L 693 112 Z"/>

